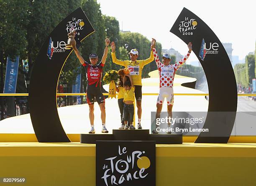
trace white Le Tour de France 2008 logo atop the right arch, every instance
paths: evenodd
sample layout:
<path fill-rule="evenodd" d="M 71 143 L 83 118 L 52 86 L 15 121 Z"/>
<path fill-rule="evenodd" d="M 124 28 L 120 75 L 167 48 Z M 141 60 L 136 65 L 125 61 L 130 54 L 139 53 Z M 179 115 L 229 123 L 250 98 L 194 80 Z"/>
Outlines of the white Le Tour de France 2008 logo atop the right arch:
<path fill-rule="evenodd" d="M 182 35 L 193 35 L 193 31 L 197 28 L 197 21 L 194 18 L 185 17 L 179 22 L 179 32 Z"/>

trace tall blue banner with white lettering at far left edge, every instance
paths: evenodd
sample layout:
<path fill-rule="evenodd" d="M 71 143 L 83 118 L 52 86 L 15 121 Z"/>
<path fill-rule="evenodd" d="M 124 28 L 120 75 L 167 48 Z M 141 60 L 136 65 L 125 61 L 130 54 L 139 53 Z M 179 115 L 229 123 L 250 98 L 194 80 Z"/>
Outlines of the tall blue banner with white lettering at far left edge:
<path fill-rule="evenodd" d="M 19 56 L 16 57 L 16 61 L 10 61 L 7 57 L 7 65 L 5 72 L 5 87 L 3 93 L 15 93 L 18 77 Z"/>

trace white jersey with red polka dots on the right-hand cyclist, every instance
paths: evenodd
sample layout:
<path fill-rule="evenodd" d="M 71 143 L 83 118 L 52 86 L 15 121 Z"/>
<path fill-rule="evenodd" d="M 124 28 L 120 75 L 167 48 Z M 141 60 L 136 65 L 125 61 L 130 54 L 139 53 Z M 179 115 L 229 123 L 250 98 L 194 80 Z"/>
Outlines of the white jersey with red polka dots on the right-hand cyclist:
<path fill-rule="evenodd" d="M 173 87 L 173 80 L 174 80 L 174 75 L 177 69 L 184 64 L 189 57 L 189 53 L 187 53 L 186 56 L 184 56 L 183 59 L 181 59 L 178 63 L 176 64 L 170 64 L 168 66 L 165 66 L 163 63 L 161 63 L 157 52 L 156 48 L 153 48 L 153 53 L 154 53 L 154 58 L 156 61 L 156 65 L 159 71 L 159 77 L 160 77 L 160 88 L 161 87 Z"/>

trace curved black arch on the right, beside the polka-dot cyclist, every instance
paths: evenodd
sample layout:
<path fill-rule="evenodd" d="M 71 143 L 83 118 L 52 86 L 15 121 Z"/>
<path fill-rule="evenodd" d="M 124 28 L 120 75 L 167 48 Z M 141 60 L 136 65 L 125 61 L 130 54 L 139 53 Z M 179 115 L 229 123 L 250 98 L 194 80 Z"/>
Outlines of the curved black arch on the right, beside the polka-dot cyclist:
<path fill-rule="evenodd" d="M 225 48 L 210 27 L 186 8 L 183 8 L 170 32 L 185 43 L 193 43 L 193 52 L 207 78 L 209 107 L 203 128 L 209 129 L 209 132 L 201 132 L 195 143 L 228 143 L 236 118 L 237 87 Z M 206 43 L 207 52 L 215 54 L 200 57 L 203 42 Z M 209 48 L 210 43 L 217 43 L 214 50 Z"/>

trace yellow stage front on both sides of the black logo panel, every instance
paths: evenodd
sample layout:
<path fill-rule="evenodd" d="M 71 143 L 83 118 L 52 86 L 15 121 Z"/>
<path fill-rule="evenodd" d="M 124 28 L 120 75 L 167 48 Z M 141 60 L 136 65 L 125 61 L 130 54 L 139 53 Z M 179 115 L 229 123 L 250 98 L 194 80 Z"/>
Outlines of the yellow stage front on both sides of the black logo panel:
<path fill-rule="evenodd" d="M 93 144 L 0 143 L 0 177 L 25 177 L 28 186 L 95 186 L 95 152 Z M 256 143 L 156 145 L 156 186 L 251 186 L 255 172 Z"/>

